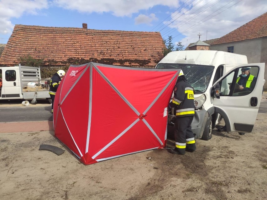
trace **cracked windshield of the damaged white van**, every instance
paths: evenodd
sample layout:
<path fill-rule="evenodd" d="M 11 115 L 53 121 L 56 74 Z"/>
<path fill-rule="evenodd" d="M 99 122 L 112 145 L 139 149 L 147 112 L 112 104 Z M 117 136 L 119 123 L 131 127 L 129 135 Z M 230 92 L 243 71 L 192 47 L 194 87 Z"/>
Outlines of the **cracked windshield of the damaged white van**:
<path fill-rule="evenodd" d="M 196 90 L 196 94 L 206 92 L 214 66 L 200 64 L 159 63 L 157 69 L 182 69 L 187 81 Z"/>

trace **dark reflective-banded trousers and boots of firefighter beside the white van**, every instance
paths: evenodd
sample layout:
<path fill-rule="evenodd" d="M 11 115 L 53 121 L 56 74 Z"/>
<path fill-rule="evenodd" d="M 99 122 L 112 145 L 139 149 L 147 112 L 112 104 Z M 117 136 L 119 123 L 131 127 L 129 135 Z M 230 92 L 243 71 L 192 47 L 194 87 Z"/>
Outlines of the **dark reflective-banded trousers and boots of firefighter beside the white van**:
<path fill-rule="evenodd" d="M 196 144 L 191 123 L 194 116 L 176 117 L 175 120 L 175 150 L 180 154 L 185 151 L 195 151 Z"/>

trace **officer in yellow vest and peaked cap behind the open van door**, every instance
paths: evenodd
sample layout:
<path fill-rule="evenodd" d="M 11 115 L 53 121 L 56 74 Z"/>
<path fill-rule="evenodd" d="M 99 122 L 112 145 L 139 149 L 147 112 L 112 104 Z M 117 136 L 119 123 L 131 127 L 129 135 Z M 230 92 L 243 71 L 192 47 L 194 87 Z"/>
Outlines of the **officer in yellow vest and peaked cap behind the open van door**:
<path fill-rule="evenodd" d="M 239 85 L 238 91 L 252 91 L 255 87 L 256 77 L 250 74 L 249 67 L 241 68 L 241 74 L 237 77 L 236 83 Z M 218 128 L 218 131 L 226 131 L 226 126 Z M 245 133 L 239 132 L 239 135 L 245 135 Z"/>

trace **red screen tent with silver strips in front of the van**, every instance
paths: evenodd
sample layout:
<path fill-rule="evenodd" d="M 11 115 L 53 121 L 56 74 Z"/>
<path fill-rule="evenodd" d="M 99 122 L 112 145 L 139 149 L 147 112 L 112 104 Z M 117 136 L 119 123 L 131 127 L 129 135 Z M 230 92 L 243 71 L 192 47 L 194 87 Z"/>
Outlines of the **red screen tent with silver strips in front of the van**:
<path fill-rule="evenodd" d="M 71 65 L 55 96 L 55 136 L 86 165 L 164 148 L 179 71 Z"/>

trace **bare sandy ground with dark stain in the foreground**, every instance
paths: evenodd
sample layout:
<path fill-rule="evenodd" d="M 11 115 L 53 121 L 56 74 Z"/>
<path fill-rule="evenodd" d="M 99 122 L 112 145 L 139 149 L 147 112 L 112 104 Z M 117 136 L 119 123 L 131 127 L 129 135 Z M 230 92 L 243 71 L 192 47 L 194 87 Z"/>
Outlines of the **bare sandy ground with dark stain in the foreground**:
<path fill-rule="evenodd" d="M 53 131 L 0 133 L 0 199 L 267 199 L 266 123 L 259 113 L 244 136 L 213 130 L 186 155 L 161 149 L 87 166 Z"/>

